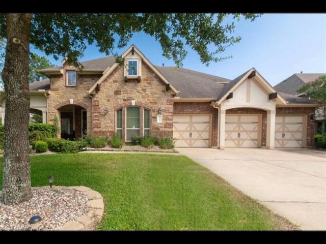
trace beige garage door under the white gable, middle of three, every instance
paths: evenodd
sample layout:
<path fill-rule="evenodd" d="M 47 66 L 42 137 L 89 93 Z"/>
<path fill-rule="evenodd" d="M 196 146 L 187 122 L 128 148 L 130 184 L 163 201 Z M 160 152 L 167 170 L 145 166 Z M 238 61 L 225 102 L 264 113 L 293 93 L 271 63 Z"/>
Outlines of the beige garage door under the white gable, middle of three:
<path fill-rule="evenodd" d="M 231 115 L 225 117 L 226 147 L 259 147 L 260 115 Z"/>

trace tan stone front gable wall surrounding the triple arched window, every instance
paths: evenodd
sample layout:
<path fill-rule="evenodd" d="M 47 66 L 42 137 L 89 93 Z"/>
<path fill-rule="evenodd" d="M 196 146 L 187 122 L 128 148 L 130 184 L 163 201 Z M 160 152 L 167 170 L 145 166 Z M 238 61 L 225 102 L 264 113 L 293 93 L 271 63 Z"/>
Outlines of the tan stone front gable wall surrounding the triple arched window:
<path fill-rule="evenodd" d="M 116 110 L 124 111 L 135 100 L 135 106 L 151 110 L 151 134 L 155 136 L 171 136 L 173 130 L 173 100 L 170 91 L 159 77 L 142 62 L 141 81 L 124 81 L 123 68 L 117 67 L 101 84 L 93 99 L 93 135 L 112 136 L 115 133 Z M 108 113 L 104 114 L 104 108 Z M 157 123 L 158 108 L 162 109 L 163 123 Z M 142 114 L 142 113 L 141 113 Z M 141 116 L 142 122 L 142 116 Z M 141 123 L 142 124 L 142 123 Z M 142 125 L 141 125 L 142 135 Z M 125 130 L 123 130 L 123 136 Z"/>

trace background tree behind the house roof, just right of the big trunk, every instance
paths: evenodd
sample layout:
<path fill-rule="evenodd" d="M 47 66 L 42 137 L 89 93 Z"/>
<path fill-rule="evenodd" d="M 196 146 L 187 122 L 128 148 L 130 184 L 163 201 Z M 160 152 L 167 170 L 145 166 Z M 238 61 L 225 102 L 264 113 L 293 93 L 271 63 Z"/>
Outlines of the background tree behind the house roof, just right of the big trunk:
<path fill-rule="evenodd" d="M 29 82 L 31 83 L 47 78 L 45 75 L 37 72 L 37 70 L 46 69 L 53 66 L 54 65 L 51 64 L 46 57 L 39 56 L 36 53 L 31 53 Z"/>

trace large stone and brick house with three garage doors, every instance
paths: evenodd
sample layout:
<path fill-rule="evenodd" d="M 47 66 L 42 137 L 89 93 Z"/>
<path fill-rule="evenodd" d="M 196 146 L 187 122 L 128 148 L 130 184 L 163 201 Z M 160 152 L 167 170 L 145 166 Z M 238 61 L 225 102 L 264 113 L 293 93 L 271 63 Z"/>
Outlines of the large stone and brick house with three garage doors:
<path fill-rule="evenodd" d="M 125 141 L 133 135 L 173 137 L 179 147 L 312 147 L 316 103 L 280 94 L 254 69 L 234 80 L 158 67 L 134 45 L 114 57 L 40 70 L 30 85 L 31 110 L 44 123 L 60 119 L 61 137 L 85 134 Z M 5 101 L 1 94 L 1 114 Z"/>

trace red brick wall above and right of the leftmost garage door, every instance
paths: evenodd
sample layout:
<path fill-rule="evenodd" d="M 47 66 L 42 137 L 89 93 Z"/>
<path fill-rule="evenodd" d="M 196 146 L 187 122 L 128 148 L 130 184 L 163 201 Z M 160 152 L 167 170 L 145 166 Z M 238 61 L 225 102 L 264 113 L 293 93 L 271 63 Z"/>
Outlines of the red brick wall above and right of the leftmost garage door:
<path fill-rule="evenodd" d="M 212 131 L 211 146 L 218 146 L 218 109 L 210 106 L 209 102 L 175 102 L 173 105 L 174 114 L 211 114 Z"/>

